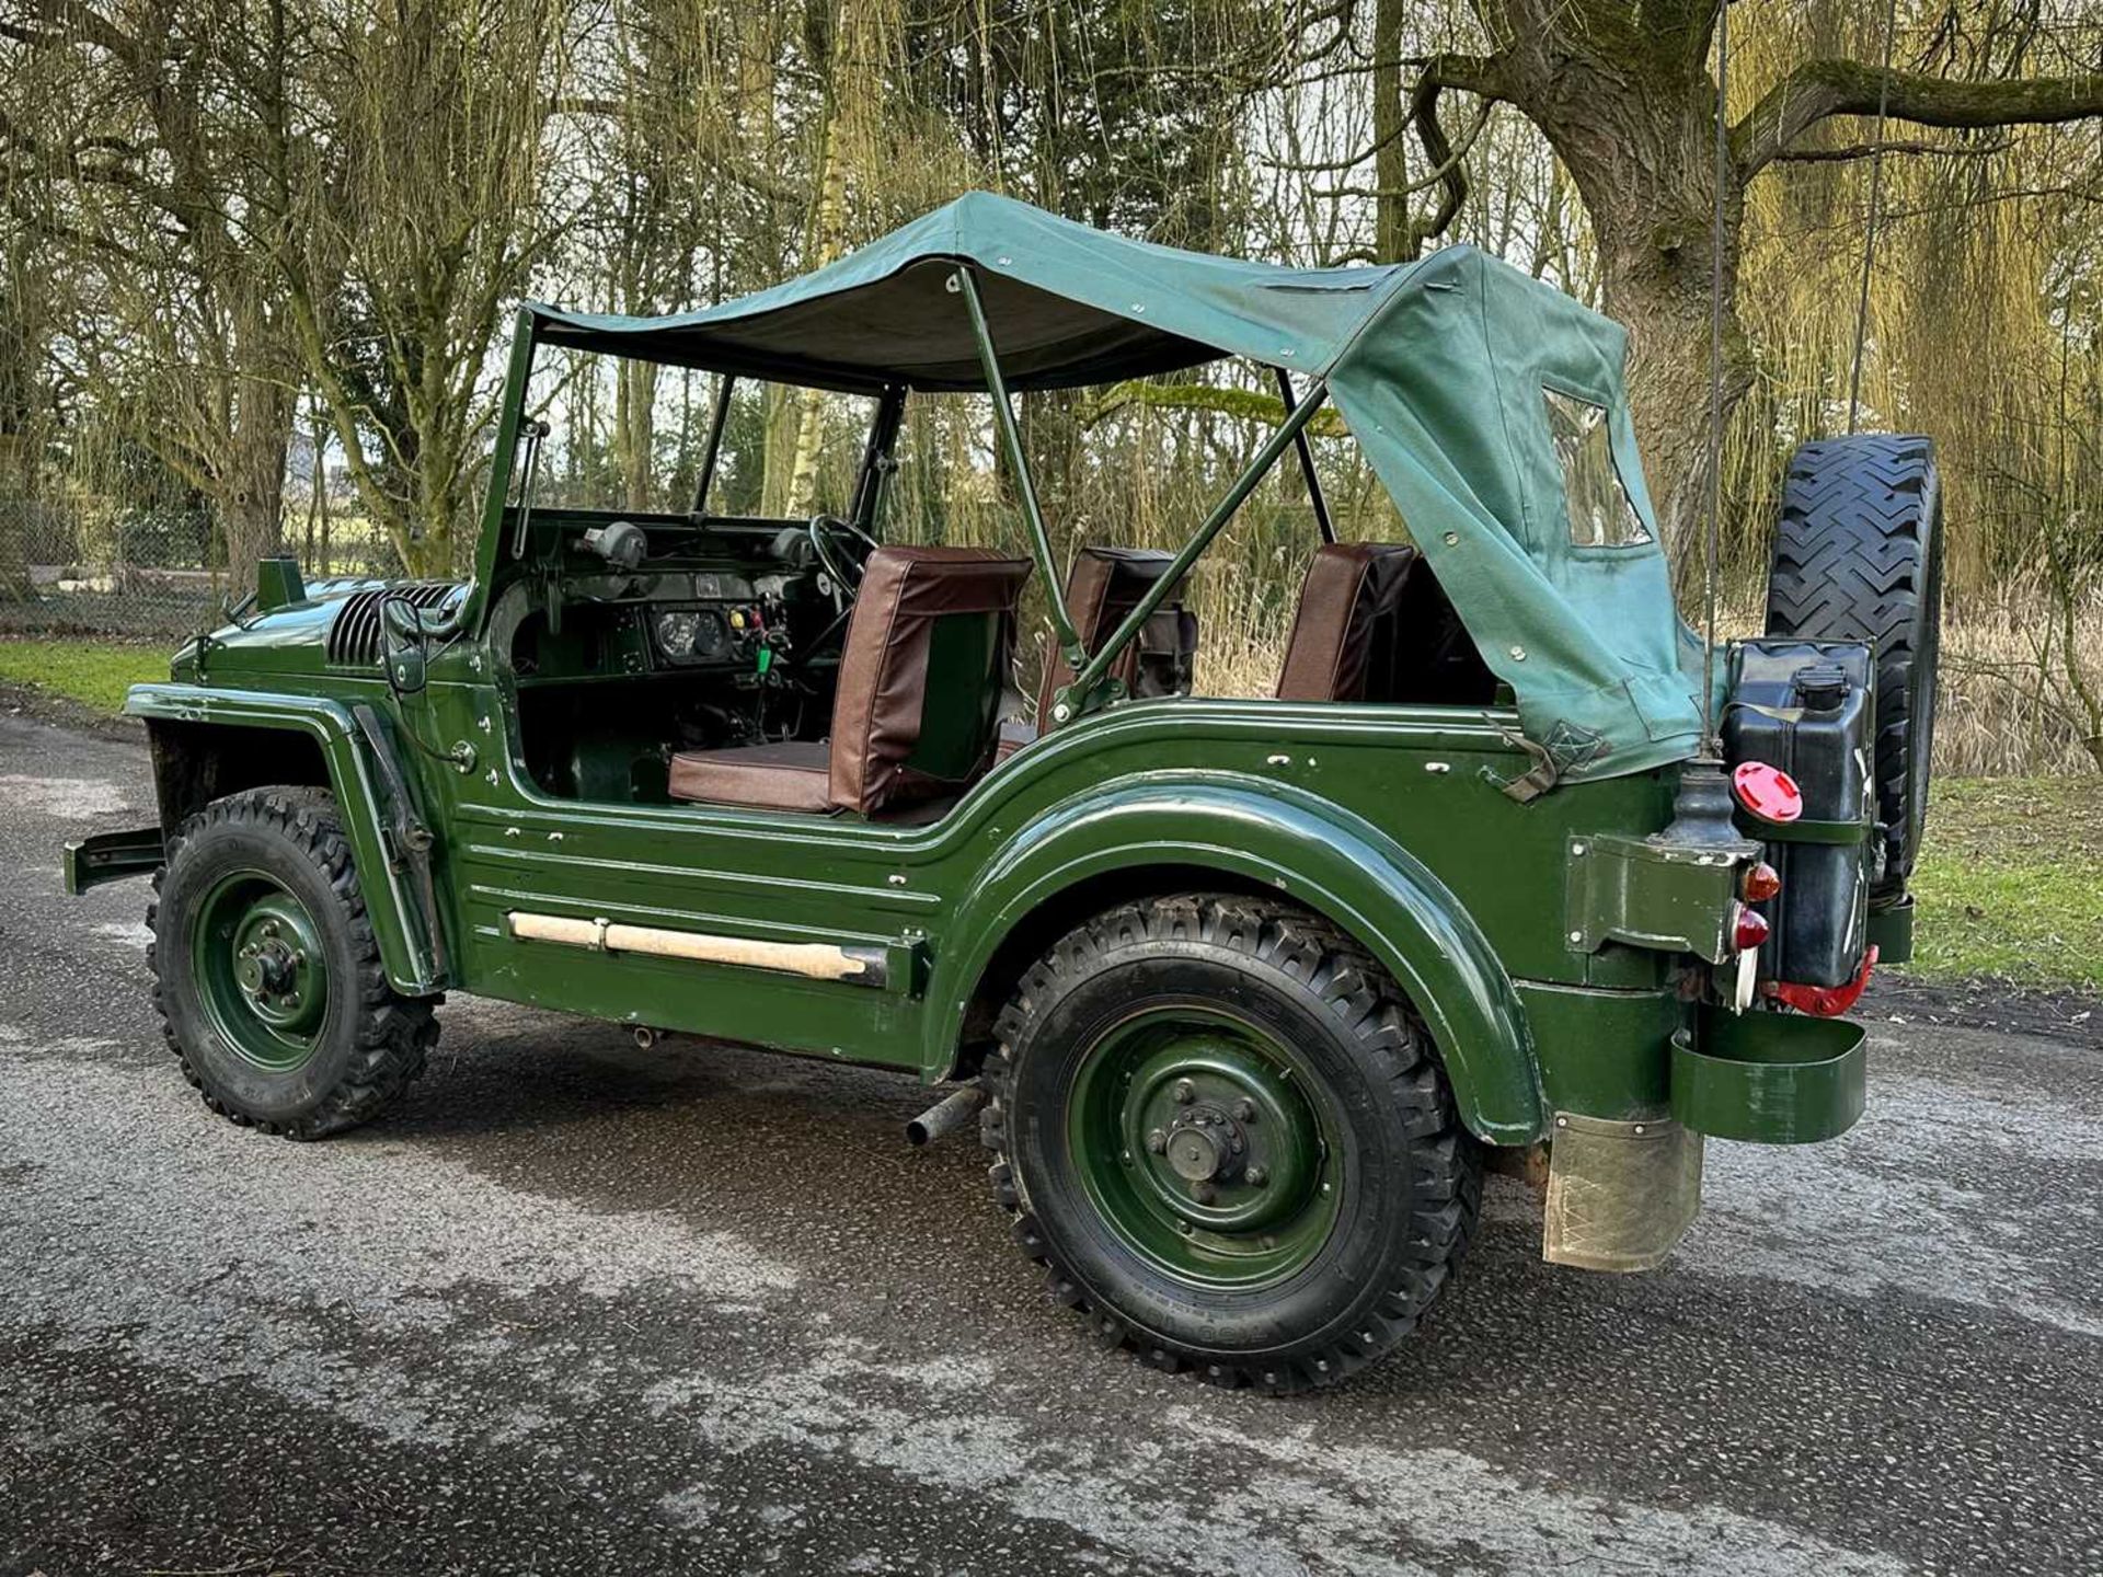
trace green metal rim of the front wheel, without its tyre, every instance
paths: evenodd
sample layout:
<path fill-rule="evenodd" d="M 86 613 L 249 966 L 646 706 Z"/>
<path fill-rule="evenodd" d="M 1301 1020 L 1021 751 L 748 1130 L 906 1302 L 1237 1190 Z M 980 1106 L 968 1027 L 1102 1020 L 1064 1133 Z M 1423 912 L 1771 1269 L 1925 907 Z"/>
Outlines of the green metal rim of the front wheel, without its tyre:
<path fill-rule="evenodd" d="M 294 1072 L 322 1043 L 328 963 L 322 936 L 282 881 L 233 871 L 189 921 L 189 974 L 219 1039 L 265 1072 Z"/>

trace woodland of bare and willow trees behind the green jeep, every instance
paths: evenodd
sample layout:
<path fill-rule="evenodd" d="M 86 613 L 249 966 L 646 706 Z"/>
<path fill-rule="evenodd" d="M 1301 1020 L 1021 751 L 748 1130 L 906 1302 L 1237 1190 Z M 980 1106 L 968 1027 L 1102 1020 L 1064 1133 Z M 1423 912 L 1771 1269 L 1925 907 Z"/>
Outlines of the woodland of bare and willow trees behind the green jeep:
<path fill-rule="evenodd" d="M 1788 454 L 1846 427 L 1874 204 L 1861 423 L 1941 446 L 1943 765 L 2103 770 L 2103 4 L 1891 19 L 1731 8 L 1727 603 L 1756 624 Z M 967 187 L 1302 265 L 1472 242 L 1613 311 L 1689 561 L 1714 23 L 1605 0 L 13 0 L 0 622 L 80 618 L 132 576 L 217 597 L 263 551 L 456 570 L 517 301 L 707 305 Z M 536 400 L 545 488 L 690 496 L 705 381 L 576 362 Z M 915 406 L 896 532 L 1012 538 L 984 402 Z M 1062 545 L 1178 542 L 1277 416 L 1232 366 L 1024 402 Z M 1407 530 L 1316 431 L 1342 530 Z M 717 503 L 837 503 L 858 448 L 852 402 L 749 391 Z M 1283 469 L 1203 566 L 1209 688 L 1270 683 L 1312 540 Z"/>

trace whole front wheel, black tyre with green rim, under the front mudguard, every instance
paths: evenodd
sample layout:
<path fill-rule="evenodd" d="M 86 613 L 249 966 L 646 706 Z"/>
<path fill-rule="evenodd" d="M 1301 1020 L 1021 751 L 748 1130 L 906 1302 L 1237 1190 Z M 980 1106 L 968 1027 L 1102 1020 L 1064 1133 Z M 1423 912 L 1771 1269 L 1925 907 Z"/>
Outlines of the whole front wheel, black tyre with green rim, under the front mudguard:
<path fill-rule="evenodd" d="M 236 1123 L 341 1133 L 391 1106 L 437 1041 L 435 1003 L 387 984 L 324 791 L 252 788 L 183 822 L 147 925 L 168 1047 Z"/>

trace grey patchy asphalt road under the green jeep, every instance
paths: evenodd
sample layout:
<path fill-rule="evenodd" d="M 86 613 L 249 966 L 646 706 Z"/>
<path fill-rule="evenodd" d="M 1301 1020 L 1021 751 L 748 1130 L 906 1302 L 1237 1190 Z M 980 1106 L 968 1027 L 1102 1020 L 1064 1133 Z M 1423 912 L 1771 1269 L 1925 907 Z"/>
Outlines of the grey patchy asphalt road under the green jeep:
<path fill-rule="evenodd" d="M 913 1083 L 456 999 L 391 1121 L 215 1119 L 147 1005 L 137 744 L 0 717 L 0 1573 L 2097 1573 L 2103 1053 L 1884 1024 L 1659 1274 L 1493 1186 L 1300 1400 L 1098 1350 Z"/>

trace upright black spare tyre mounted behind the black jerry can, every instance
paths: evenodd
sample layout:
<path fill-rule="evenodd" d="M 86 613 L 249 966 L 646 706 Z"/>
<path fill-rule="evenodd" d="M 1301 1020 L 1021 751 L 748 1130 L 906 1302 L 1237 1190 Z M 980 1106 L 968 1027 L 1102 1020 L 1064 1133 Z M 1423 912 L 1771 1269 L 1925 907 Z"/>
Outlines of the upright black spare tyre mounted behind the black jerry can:
<path fill-rule="evenodd" d="M 1935 444 L 1855 433 L 1790 460 L 1767 582 L 1767 633 L 1876 648 L 1876 908 L 1905 896 L 1928 816 L 1941 656 L 1943 498 Z"/>

